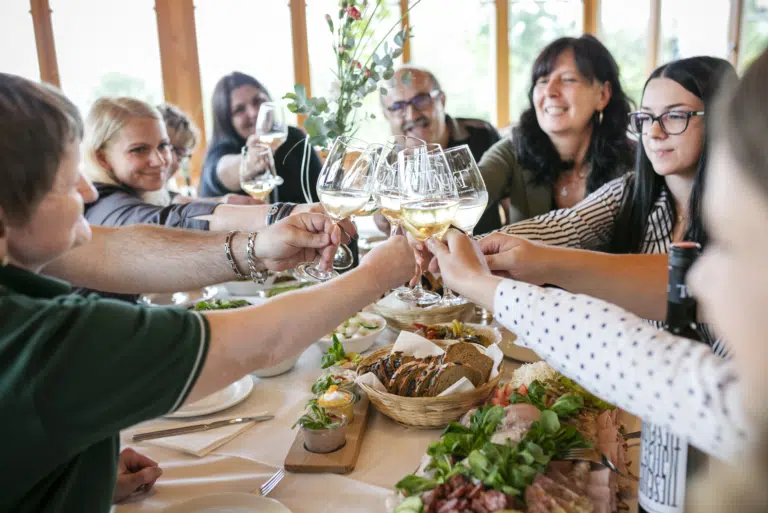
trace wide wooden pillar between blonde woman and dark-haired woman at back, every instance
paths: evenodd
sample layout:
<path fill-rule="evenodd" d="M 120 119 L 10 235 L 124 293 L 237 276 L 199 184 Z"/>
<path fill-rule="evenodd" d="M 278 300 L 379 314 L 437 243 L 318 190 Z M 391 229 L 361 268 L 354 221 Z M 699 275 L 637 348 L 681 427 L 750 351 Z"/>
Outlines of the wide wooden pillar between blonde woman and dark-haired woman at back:
<path fill-rule="evenodd" d="M 165 100 L 181 108 L 200 129 L 200 141 L 190 161 L 197 185 L 206 148 L 200 60 L 197 54 L 193 0 L 155 0 L 160 62 Z"/>

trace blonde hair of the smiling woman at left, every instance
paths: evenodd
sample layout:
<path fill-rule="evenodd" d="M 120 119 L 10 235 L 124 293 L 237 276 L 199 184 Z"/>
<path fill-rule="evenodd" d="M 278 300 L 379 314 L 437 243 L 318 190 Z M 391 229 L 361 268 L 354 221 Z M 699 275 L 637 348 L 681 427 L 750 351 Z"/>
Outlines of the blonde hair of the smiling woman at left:
<path fill-rule="evenodd" d="M 125 185 L 120 182 L 111 169 L 101 165 L 98 152 L 102 151 L 125 125 L 134 119 L 156 119 L 163 122 L 163 117 L 156 108 L 136 98 L 99 98 L 88 112 L 85 120 L 84 174 L 93 182 L 112 185 Z M 147 203 L 165 206 L 170 203 L 170 196 L 165 187 L 157 191 L 140 192 L 139 196 Z"/>

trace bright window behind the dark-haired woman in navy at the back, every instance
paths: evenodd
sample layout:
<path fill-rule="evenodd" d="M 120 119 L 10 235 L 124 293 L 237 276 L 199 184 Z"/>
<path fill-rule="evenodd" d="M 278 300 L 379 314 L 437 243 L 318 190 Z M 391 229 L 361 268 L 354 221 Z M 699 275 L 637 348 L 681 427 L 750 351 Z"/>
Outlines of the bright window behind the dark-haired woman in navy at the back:
<path fill-rule="evenodd" d="M 213 128 L 213 88 L 224 75 L 247 73 L 264 84 L 274 100 L 293 90 L 288 0 L 196 0 L 195 25 L 208 134 Z M 286 115 L 295 123 L 296 116 L 287 109 Z"/>

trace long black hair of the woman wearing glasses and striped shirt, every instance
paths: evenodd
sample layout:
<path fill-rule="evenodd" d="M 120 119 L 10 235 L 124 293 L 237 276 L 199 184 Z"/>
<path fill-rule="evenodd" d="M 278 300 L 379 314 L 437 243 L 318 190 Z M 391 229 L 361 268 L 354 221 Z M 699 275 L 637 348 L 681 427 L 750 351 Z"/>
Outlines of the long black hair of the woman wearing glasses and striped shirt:
<path fill-rule="evenodd" d="M 704 103 L 704 111 L 712 107 L 718 86 L 724 79 L 735 79 L 736 70 L 724 59 L 716 57 L 691 57 L 672 61 L 657 68 L 643 86 L 643 94 L 648 83 L 654 78 L 674 80 L 686 90 L 695 94 Z M 705 116 L 708 115 L 705 114 Z M 708 123 L 709 124 L 709 123 Z M 707 243 L 707 234 L 701 219 L 701 198 L 704 190 L 705 169 L 707 165 L 707 136 L 705 134 L 699 163 L 688 203 L 688 231 L 685 239 Z M 677 209 L 672 194 L 667 188 L 664 177 L 653 170 L 653 165 L 645 153 L 642 138 L 638 144 L 635 173 L 624 193 L 624 200 L 614 228 L 611 250 L 615 253 L 641 253 L 642 244 L 654 204 L 662 192 L 666 192 L 666 202 L 671 216 L 677 219 Z"/>

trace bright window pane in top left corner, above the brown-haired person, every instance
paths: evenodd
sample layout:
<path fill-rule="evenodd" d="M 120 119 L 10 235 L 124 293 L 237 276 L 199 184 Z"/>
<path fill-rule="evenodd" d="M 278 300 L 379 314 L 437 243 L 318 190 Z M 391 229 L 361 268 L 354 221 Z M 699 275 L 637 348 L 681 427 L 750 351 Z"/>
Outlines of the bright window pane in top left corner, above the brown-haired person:
<path fill-rule="evenodd" d="M 5 2 L 3 5 L 0 14 L 0 48 L 1 72 L 40 80 L 29 2 Z"/>

